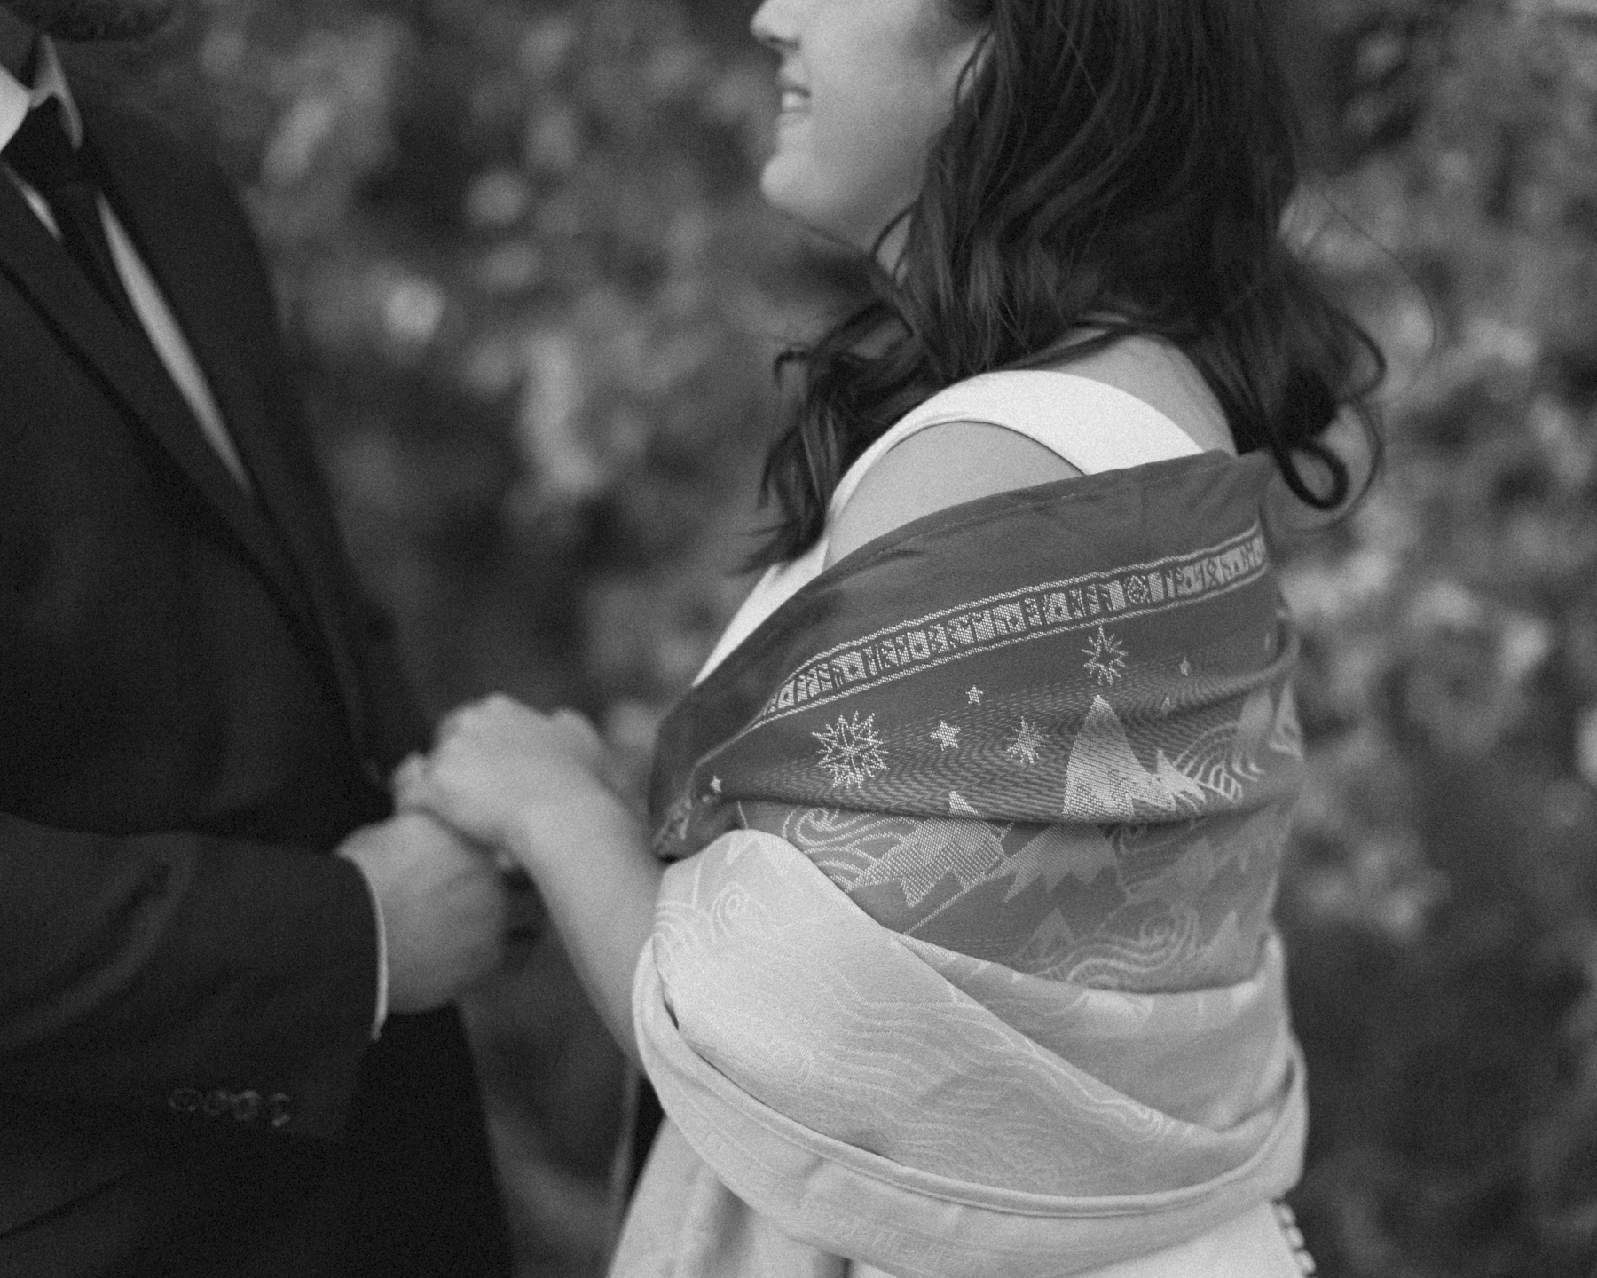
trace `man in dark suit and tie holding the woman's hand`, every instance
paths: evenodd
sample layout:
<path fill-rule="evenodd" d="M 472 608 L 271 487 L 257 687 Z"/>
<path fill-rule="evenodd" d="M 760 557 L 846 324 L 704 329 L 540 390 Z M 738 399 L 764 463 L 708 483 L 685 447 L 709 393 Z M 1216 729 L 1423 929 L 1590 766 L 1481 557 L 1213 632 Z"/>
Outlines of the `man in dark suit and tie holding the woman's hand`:
<path fill-rule="evenodd" d="M 244 219 L 0 0 L 0 1273 L 503 1275 L 492 864 L 343 561 Z"/>

